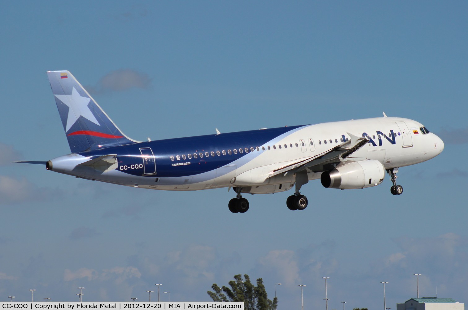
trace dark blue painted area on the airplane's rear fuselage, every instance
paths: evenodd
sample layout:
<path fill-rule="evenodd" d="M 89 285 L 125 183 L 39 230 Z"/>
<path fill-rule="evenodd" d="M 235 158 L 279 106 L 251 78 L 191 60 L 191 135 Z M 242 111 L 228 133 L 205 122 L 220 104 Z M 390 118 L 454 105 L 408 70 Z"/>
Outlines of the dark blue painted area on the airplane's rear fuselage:
<path fill-rule="evenodd" d="M 228 165 L 249 154 L 251 148 L 256 149 L 256 147 L 300 127 L 303 127 L 303 125 L 156 140 L 77 154 L 90 159 L 102 155 L 116 154 L 117 169 L 135 176 L 185 177 Z M 153 151 L 156 165 L 155 174 L 145 175 L 140 148 L 151 148 Z M 234 148 L 237 154 L 234 154 Z M 249 152 L 246 152 L 245 148 L 248 148 Z M 227 153 L 228 149 L 231 150 L 231 154 Z M 242 149 L 242 153 L 240 153 L 239 149 Z M 226 155 L 221 153 L 223 150 Z M 217 155 L 217 151 L 220 152 L 220 155 Z M 211 152 L 214 152 L 215 156 L 212 156 Z M 203 157 L 199 155 L 200 153 Z M 205 153 L 209 155 L 206 156 Z M 190 159 L 187 157 L 189 154 L 192 156 Z M 197 154 L 197 158 L 194 157 L 194 154 Z M 171 160 L 171 156 L 176 158 L 177 155 L 180 156 L 181 160 Z M 185 160 L 182 160 L 182 155 L 186 156 Z"/>

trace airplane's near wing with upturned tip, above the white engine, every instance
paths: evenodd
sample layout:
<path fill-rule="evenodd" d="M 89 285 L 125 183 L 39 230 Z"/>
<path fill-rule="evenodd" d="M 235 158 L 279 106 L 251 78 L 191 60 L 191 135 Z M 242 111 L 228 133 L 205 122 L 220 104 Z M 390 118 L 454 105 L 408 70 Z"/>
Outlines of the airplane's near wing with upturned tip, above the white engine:
<path fill-rule="evenodd" d="M 331 162 L 341 162 L 343 159 L 350 156 L 352 153 L 356 152 L 359 148 L 369 142 L 369 140 L 366 138 L 357 137 L 351 133 L 348 133 L 348 135 L 351 137 L 350 140 L 345 141 L 342 144 L 321 154 L 302 159 L 298 162 L 292 162 L 286 166 L 273 170 L 270 172 L 268 177 L 273 177 L 281 173 L 286 176 L 288 173 L 294 174 L 310 167 L 320 166 Z"/>

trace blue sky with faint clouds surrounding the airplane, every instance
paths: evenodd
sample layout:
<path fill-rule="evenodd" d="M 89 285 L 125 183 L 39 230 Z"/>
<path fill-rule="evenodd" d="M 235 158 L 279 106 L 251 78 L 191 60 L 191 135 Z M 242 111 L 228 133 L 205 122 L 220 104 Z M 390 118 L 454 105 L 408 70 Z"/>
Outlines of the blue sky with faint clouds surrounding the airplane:
<path fill-rule="evenodd" d="M 279 308 L 468 300 L 466 1 L 10 1 L 0 4 L 0 300 L 207 301 L 262 277 Z M 445 141 L 375 188 L 149 191 L 14 160 L 69 152 L 45 71 L 66 69 L 136 140 L 388 116 Z M 338 308 L 340 307 L 340 308 Z M 351 307 L 351 308 L 350 308 Z"/>

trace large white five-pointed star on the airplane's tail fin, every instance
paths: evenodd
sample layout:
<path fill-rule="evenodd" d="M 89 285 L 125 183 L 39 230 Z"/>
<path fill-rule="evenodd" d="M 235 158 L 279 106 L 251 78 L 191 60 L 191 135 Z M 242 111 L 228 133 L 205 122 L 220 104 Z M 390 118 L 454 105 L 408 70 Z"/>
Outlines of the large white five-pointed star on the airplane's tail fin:
<path fill-rule="evenodd" d="M 65 132 L 73 126 L 74 123 L 80 118 L 80 116 L 88 119 L 89 121 L 99 125 L 99 122 L 94 117 L 93 112 L 89 110 L 88 103 L 91 101 L 90 98 L 82 97 L 78 91 L 73 87 L 72 95 L 54 95 L 61 102 L 66 104 L 70 109 L 68 109 L 68 119 L 66 120 L 66 129 Z"/>

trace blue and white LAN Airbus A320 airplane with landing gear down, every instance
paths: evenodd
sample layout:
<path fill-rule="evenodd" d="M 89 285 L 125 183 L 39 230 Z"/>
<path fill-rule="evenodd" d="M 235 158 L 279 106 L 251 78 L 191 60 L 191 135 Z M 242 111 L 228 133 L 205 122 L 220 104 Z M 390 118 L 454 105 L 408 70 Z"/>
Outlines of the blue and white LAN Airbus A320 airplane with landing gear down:
<path fill-rule="evenodd" d="M 155 190 L 232 187 L 229 210 L 244 213 L 242 193 L 268 194 L 295 187 L 286 200 L 303 210 L 302 185 L 320 179 L 336 189 L 396 184 L 399 167 L 425 162 L 444 142 L 421 123 L 387 117 L 219 133 L 140 142 L 125 136 L 68 71 L 47 72 L 72 151 L 44 164 L 47 170 L 88 180 Z"/>

